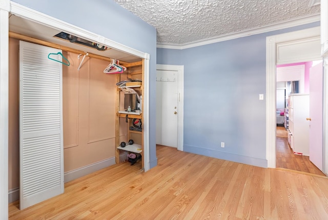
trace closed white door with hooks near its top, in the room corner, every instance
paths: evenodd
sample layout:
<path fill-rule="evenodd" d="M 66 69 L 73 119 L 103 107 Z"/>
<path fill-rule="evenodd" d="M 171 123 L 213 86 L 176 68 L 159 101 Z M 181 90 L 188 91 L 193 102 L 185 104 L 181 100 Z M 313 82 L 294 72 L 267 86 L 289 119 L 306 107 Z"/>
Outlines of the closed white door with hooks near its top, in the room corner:
<path fill-rule="evenodd" d="M 183 66 L 156 69 L 156 144 L 183 151 Z"/>

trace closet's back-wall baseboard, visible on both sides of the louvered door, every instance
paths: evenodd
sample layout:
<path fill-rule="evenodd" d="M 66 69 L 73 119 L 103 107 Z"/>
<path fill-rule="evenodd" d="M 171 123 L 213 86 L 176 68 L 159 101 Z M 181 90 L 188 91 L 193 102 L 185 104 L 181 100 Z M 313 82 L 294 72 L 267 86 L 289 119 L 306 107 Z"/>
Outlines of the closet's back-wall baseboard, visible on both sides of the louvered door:
<path fill-rule="evenodd" d="M 68 171 L 64 173 L 64 182 L 70 182 L 79 177 L 88 175 L 90 173 L 96 172 L 98 170 L 104 169 L 106 167 L 112 166 L 115 164 L 115 157 L 104 159 L 104 161 L 99 161 L 94 164 L 90 164 L 85 167 L 80 167 L 75 170 Z M 11 189 L 8 191 L 8 203 L 12 203 L 19 200 L 19 187 Z"/>

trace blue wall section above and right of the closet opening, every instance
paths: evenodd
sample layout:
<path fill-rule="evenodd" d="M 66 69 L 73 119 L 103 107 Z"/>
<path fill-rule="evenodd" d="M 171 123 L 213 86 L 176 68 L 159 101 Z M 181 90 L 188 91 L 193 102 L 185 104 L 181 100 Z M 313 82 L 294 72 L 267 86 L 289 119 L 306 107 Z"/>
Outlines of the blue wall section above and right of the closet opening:
<path fill-rule="evenodd" d="M 150 54 L 150 167 L 156 166 L 156 29 L 112 0 L 13 2 Z"/>

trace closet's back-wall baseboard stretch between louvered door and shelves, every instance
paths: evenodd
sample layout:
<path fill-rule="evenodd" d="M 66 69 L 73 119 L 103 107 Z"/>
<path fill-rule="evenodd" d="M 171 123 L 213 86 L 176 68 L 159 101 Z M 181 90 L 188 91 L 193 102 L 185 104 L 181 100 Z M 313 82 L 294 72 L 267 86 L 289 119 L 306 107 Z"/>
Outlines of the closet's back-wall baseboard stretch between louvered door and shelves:
<path fill-rule="evenodd" d="M 104 159 L 104 161 L 99 161 L 97 163 L 90 164 L 85 167 L 80 167 L 78 169 L 68 171 L 64 173 L 64 183 L 73 181 L 74 179 L 88 175 L 90 173 L 96 172 L 98 170 L 112 166 L 114 164 L 115 164 L 115 157 L 111 157 L 108 159 Z"/>

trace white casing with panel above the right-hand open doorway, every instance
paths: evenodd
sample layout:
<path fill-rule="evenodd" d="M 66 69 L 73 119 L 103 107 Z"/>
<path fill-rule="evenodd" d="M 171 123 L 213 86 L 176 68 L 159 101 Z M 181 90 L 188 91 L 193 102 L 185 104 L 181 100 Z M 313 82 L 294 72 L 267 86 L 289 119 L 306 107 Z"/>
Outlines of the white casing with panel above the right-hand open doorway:
<path fill-rule="evenodd" d="M 320 27 L 267 37 L 266 146 L 269 168 L 276 168 L 276 65 L 319 59 L 322 60 Z"/>

